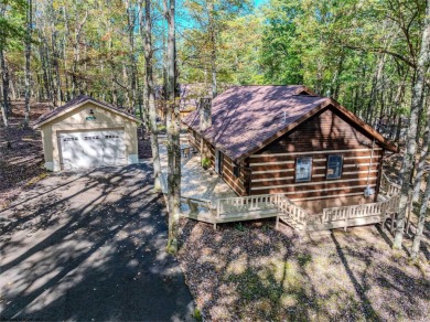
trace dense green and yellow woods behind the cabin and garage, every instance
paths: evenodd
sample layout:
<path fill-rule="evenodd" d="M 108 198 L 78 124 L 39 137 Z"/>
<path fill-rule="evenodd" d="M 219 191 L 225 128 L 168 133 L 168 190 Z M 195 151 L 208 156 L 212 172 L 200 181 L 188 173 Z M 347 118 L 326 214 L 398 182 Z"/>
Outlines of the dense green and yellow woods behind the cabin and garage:
<path fill-rule="evenodd" d="M 31 97 L 58 106 L 85 93 L 138 111 L 146 73 L 141 1 L 33 0 L 29 22 L 30 2 L 0 4 L 8 98 L 25 96 L 30 25 Z M 161 3 L 152 3 L 154 82 L 162 85 L 166 26 Z M 219 83 L 304 84 L 375 127 L 393 127 L 395 139 L 409 115 L 424 10 L 416 0 L 271 0 L 257 8 L 250 1 L 179 1 L 180 83 L 206 83 L 214 93 Z"/>

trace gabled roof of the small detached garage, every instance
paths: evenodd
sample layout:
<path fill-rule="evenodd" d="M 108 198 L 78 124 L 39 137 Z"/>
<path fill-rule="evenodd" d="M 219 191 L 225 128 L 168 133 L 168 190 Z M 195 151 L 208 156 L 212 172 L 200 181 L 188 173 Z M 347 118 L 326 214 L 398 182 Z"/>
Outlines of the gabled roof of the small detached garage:
<path fill-rule="evenodd" d="M 64 114 L 66 114 L 66 112 L 68 112 L 71 110 L 73 110 L 75 108 L 78 108 L 79 106 L 83 106 L 84 104 L 86 104 L 88 101 L 90 101 L 90 103 L 93 103 L 93 104 L 95 104 L 95 105 L 97 105 L 97 106 L 99 106 L 101 108 L 105 108 L 107 110 L 110 110 L 110 111 L 112 111 L 115 114 L 123 116 L 123 117 L 126 117 L 126 118 L 128 118 L 128 119 L 130 119 L 132 121 L 140 122 L 140 120 L 136 116 L 133 116 L 133 115 L 131 115 L 131 114 L 129 114 L 127 111 L 123 111 L 123 110 L 121 110 L 121 109 L 119 109 L 119 108 L 117 108 L 117 107 L 115 107 L 115 106 L 112 106 L 112 105 L 110 105 L 108 103 L 97 100 L 97 99 L 95 99 L 95 98 L 93 98 L 93 97 L 90 97 L 88 95 L 80 95 L 80 96 L 77 96 L 76 98 L 67 101 L 65 105 L 62 105 L 62 106 L 60 106 L 60 107 L 57 107 L 57 108 L 55 108 L 55 109 L 53 109 L 53 110 L 42 115 L 35 121 L 34 128 L 40 128 L 44 124 L 47 124 L 49 121 L 52 121 L 53 119 L 55 119 L 55 118 L 57 118 L 57 117 L 60 117 L 60 116 L 62 116 L 62 115 L 64 115 Z"/>

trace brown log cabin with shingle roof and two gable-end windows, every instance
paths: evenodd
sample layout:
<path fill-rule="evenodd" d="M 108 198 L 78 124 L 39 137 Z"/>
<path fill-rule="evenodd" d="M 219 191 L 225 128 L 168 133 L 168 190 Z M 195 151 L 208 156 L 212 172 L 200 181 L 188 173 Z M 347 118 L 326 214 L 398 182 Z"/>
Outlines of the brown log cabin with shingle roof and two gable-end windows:
<path fill-rule="evenodd" d="M 301 85 L 236 86 L 202 98 L 189 141 L 239 196 L 282 193 L 312 213 L 377 200 L 397 147 Z M 205 160 L 206 159 L 206 160 Z"/>

